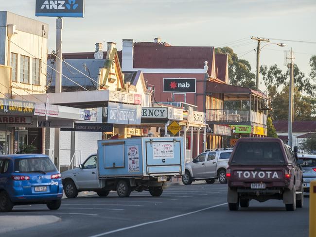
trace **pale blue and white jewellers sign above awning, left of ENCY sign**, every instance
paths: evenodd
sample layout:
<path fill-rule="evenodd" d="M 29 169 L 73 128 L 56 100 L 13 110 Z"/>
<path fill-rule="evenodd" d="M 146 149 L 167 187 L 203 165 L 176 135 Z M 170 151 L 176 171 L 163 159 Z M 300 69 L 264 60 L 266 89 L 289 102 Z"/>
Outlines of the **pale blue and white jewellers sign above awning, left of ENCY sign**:
<path fill-rule="evenodd" d="M 141 106 L 108 102 L 107 123 L 140 124 Z"/>

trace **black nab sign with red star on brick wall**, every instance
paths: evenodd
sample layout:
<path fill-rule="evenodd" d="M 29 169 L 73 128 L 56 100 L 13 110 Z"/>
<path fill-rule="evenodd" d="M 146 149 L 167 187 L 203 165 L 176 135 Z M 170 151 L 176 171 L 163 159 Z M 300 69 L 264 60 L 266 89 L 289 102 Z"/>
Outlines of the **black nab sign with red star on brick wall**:
<path fill-rule="evenodd" d="M 163 92 L 195 93 L 195 78 L 164 78 Z"/>

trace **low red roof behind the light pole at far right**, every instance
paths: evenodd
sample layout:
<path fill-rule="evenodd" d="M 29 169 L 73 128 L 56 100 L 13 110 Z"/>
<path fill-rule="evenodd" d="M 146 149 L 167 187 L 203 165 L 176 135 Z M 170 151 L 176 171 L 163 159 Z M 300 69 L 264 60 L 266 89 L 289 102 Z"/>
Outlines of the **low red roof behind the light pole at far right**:
<path fill-rule="evenodd" d="M 288 131 L 288 121 L 273 121 L 277 132 Z M 293 132 L 316 132 L 316 121 L 294 121 Z"/>

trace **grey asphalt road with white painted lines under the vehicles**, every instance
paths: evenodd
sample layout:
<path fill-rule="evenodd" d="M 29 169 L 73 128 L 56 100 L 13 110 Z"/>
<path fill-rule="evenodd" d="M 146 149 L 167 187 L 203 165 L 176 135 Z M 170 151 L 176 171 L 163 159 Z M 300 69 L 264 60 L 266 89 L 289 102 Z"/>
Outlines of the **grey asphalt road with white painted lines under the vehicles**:
<path fill-rule="evenodd" d="M 6 233 L 6 237 L 308 237 L 308 203 L 295 212 L 282 201 L 251 201 L 248 208 L 228 211 L 227 185 L 171 186 L 161 197 L 132 192 L 119 198 L 97 195 L 63 199 L 59 210 L 45 205 L 16 206 L 4 215 L 54 215 L 61 220 Z M 31 217 L 30 217 L 31 216 Z M 18 224 L 18 223 L 17 223 Z"/>

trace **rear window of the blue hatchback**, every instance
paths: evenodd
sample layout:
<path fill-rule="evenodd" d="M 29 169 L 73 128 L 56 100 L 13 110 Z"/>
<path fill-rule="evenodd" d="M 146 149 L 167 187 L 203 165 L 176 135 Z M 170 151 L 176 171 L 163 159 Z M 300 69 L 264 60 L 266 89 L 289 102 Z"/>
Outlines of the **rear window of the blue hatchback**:
<path fill-rule="evenodd" d="M 48 157 L 21 158 L 15 160 L 15 172 L 47 173 L 57 171 L 55 165 Z"/>

